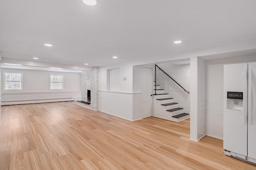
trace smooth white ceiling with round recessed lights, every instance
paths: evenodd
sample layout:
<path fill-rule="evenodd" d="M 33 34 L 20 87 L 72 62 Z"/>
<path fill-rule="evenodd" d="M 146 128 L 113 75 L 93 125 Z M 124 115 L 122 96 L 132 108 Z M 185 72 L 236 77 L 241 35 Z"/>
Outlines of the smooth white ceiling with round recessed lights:
<path fill-rule="evenodd" d="M 104 66 L 256 49 L 256 0 L 97 2 L 0 0 L 2 57 Z"/>

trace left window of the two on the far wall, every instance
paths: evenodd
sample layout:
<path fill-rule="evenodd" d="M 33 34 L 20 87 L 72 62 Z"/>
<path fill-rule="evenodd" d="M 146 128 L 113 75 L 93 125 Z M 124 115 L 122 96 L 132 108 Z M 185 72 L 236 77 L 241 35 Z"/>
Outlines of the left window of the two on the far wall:
<path fill-rule="evenodd" d="M 22 73 L 4 73 L 4 90 L 21 90 Z"/>

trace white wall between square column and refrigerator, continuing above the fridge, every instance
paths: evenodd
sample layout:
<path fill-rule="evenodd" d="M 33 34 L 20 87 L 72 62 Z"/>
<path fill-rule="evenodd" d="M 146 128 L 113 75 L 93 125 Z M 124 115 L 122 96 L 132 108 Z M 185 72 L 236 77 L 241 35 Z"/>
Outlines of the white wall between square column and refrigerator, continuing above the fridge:
<path fill-rule="evenodd" d="M 256 62 L 256 56 L 206 61 L 206 135 L 223 139 L 224 64 Z"/>

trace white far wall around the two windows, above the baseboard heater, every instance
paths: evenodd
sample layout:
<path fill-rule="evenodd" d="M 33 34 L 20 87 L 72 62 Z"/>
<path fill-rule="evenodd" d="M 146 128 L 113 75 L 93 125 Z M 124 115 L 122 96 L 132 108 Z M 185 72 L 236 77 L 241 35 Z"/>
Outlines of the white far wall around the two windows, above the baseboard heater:
<path fill-rule="evenodd" d="M 4 90 L 2 81 L 2 101 L 42 100 L 56 98 L 81 98 L 81 73 L 52 72 L 42 70 L 25 70 L 2 68 L 4 72 L 22 73 L 22 90 Z M 63 75 L 63 90 L 50 90 L 50 74 Z"/>

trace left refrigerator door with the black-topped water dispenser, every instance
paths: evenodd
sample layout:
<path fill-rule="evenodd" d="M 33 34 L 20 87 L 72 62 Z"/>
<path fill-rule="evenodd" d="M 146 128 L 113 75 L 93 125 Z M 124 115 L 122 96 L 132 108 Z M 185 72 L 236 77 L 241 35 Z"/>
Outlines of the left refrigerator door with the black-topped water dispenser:
<path fill-rule="evenodd" d="M 224 65 L 223 147 L 244 156 L 247 156 L 247 70 L 248 63 Z M 243 92 L 243 100 L 230 100 L 227 92 Z M 242 109 L 230 109 L 228 102 L 242 102 Z"/>

